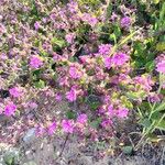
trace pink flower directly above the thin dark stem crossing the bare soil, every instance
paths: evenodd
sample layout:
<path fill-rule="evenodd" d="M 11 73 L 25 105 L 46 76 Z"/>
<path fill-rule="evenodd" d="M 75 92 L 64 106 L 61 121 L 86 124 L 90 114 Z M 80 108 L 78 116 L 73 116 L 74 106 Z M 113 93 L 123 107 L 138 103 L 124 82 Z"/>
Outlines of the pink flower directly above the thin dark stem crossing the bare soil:
<path fill-rule="evenodd" d="M 63 131 L 66 133 L 74 132 L 74 121 L 73 120 L 63 120 L 62 121 Z"/>

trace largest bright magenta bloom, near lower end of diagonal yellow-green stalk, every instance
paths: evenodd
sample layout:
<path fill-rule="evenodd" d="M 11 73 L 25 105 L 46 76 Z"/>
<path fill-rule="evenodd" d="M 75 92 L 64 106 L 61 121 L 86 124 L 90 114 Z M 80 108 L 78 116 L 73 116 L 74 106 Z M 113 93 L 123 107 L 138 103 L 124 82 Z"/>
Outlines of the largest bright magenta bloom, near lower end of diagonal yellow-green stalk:
<path fill-rule="evenodd" d="M 129 56 L 124 53 L 121 53 L 121 52 L 116 53 L 111 58 L 111 62 L 114 66 L 122 66 L 128 61 L 129 61 Z"/>

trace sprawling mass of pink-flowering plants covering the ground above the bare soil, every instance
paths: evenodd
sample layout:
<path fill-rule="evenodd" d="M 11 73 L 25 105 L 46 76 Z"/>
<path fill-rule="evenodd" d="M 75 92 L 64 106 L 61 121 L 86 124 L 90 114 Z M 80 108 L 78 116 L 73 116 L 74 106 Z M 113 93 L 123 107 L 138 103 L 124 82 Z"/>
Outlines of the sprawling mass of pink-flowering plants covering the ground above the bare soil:
<path fill-rule="evenodd" d="M 1 0 L 0 116 L 96 141 L 132 118 L 140 143 L 165 130 L 165 37 L 153 34 L 165 29 L 165 2 L 113 2 Z M 70 108 L 53 113 L 62 101 Z"/>

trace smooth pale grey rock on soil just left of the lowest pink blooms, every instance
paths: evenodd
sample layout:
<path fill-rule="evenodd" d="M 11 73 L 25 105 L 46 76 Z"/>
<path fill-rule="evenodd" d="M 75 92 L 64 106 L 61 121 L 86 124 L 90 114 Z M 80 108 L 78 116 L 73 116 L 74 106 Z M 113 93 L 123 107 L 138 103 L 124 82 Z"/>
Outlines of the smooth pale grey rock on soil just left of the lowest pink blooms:
<path fill-rule="evenodd" d="M 34 142 L 34 140 L 36 140 L 35 130 L 36 130 L 35 128 L 32 128 L 24 135 L 23 141 L 26 144 L 30 144 L 30 143 Z"/>

